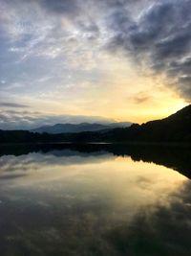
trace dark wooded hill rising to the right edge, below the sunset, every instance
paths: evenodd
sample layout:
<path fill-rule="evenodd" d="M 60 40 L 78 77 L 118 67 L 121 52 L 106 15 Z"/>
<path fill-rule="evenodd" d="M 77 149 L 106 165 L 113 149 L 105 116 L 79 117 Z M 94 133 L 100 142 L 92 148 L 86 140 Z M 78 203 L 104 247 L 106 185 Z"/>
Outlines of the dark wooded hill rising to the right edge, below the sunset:
<path fill-rule="evenodd" d="M 64 138 L 63 138 L 64 139 Z M 113 128 L 106 132 L 67 134 L 70 142 L 134 142 L 134 143 L 191 143 L 191 105 L 161 120 L 129 128 Z"/>

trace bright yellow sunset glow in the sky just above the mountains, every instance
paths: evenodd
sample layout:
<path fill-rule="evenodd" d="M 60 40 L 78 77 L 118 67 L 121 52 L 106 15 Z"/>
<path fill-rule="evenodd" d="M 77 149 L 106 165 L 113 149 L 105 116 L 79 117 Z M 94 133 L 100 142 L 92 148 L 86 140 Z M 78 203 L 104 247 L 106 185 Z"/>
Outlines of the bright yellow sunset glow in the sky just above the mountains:
<path fill-rule="evenodd" d="M 166 86 L 166 78 L 141 72 L 127 58 L 118 61 L 106 55 L 101 60 L 103 79 L 67 89 L 61 84 L 54 92 L 38 93 L 35 99 L 25 97 L 23 103 L 46 114 L 99 116 L 138 124 L 165 118 L 188 105 Z"/>

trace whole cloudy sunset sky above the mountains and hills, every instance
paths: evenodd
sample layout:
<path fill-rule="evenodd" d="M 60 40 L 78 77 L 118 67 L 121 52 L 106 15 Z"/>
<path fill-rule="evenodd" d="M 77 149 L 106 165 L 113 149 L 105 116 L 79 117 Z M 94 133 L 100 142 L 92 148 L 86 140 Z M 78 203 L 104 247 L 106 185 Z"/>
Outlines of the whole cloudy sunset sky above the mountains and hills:
<path fill-rule="evenodd" d="M 191 100 L 191 0 L 0 0 L 0 128 L 160 119 Z"/>

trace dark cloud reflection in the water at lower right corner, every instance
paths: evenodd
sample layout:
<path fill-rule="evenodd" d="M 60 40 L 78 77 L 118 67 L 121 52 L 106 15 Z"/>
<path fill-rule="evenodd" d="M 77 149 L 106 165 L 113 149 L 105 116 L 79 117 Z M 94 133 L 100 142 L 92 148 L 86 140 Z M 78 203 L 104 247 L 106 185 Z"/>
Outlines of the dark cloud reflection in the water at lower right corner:
<path fill-rule="evenodd" d="M 155 212 L 139 211 L 129 225 L 111 229 L 106 239 L 117 255 L 187 256 L 191 253 L 191 183 L 170 196 L 170 204 L 156 205 Z"/>

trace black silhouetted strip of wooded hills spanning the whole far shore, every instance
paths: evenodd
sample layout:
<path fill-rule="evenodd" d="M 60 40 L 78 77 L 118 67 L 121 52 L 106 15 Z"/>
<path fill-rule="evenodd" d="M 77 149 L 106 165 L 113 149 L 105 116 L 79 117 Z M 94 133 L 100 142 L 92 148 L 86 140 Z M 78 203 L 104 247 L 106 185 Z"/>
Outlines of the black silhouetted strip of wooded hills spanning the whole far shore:
<path fill-rule="evenodd" d="M 82 128 L 84 126 L 87 127 L 82 124 Z M 91 126 L 94 127 L 95 124 Z M 100 128 L 100 125 L 96 128 Z M 75 132 L 71 131 L 72 129 L 69 133 L 49 134 L 28 130 L 0 130 L 0 143 L 191 143 L 191 105 L 167 118 L 142 125 L 133 124 L 129 128 L 110 127 L 96 131 L 77 132 L 76 129 Z"/>

